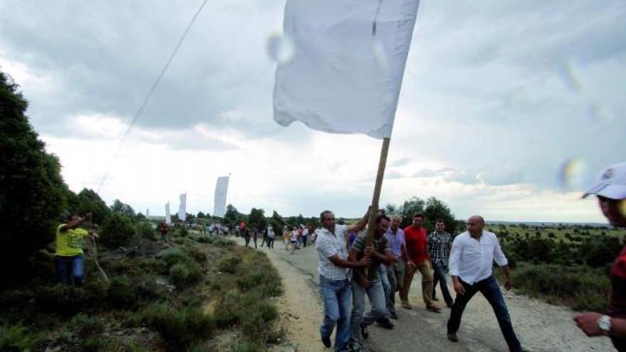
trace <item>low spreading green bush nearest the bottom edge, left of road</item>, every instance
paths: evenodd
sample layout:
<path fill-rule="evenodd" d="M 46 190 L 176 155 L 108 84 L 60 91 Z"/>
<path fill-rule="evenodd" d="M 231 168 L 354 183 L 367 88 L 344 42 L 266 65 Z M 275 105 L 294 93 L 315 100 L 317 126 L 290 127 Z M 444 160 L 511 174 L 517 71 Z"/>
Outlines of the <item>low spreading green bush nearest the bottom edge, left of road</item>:
<path fill-rule="evenodd" d="M 178 349 L 210 337 L 216 327 L 215 319 L 201 309 L 177 308 L 164 303 L 147 306 L 133 319 L 158 331 L 166 343 Z"/>

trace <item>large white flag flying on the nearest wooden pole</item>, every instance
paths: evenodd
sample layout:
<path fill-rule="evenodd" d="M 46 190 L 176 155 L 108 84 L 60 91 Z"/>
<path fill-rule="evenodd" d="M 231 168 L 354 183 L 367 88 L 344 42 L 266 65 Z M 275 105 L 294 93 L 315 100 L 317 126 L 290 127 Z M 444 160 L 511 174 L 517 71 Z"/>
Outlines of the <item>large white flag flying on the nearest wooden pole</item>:
<path fill-rule="evenodd" d="M 419 0 L 287 0 L 274 119 L 391 137 Z"/>

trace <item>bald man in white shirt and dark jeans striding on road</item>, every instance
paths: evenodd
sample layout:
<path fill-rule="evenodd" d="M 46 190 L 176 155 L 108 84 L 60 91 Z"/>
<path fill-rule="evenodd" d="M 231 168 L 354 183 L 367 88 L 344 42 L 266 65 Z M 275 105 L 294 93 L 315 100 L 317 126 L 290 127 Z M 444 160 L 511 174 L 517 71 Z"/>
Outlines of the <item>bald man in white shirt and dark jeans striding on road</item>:
<path fill-rule="evenodd" d="M 515 336 L 509 310 L 506 309 L 504 297 L 492 272 L 495 260 L 506 278 L 504 288 L 511 289 L 513 281 L 509 262 L 502 252 L 496 235 L 483 229 L 484 219 L 474 215 L 467 220 L 467 231 L 458 235 L 452 242 L 450 276 L 455 284 L 457 297 L 455 303 L 452 304 L 450 319 L 447 321 L 447 339 L 452 342 L 459 341 L 457 331 L 461 324 L 463 310 L 474 294 L 480 292 L 494 309 L 500 331 L 504 335 L 506 344 L 509 345 L 509 351 L 524 351 Z"/>

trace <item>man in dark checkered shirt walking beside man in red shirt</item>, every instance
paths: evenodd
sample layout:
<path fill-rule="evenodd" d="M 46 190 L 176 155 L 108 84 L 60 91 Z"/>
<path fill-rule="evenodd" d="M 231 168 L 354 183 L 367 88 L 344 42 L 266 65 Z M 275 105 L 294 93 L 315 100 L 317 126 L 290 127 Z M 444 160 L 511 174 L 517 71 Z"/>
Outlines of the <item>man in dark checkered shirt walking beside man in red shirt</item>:
<path fill-rule="evenodd" d="M 445 272 L 447 271 L 447 264 L 450 258 L 450 248 L 452 248 L 452 236 L 450 233 L 445 232 L 444 221 L 437 220 L 435 231 L 426 238 L 426 249 L 435 271 L 433 301 L 437 300 L 435 298 L 435 287 L 437 287 L 437 282 L 440 282 L 441 294 L 448 308 L 452 308 L 452 303 L 454 302 L 452 296 L 450 296 L 450 291 L 447 289 L 447 280 L 445 279 Z"/>

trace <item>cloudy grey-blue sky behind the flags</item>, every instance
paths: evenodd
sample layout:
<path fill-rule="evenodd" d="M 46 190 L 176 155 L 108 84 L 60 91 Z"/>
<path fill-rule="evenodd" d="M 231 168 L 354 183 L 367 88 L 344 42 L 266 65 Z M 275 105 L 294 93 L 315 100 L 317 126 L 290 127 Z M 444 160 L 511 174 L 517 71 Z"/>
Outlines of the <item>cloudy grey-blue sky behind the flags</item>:
<path fill-rule="evenodd" d="M 381 142 L 272 121 L 284 1 L 208 1 L 124 144 L 202 0 L 0 0 L 0 70 L 74 191 L 136 210 L 361 215 Z M 626 2 L 423 0 L 381 204 L 435 196 L 457 218 L 600 221 L 580 200 L 626 160 Z M 106 182 L 102 179 L 107 175 Z"/>

